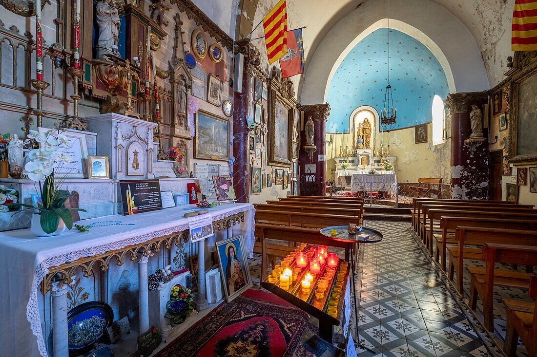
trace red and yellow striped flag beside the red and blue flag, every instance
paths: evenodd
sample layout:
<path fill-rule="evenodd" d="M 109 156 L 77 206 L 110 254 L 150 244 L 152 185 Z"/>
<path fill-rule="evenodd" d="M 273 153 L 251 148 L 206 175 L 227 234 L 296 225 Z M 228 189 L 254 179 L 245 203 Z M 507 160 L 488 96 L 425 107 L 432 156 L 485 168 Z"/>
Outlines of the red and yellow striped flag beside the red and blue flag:
<path fill-rule="evenodd" d="M 269 64 L 278 61 L 287 52 L 287 4 L 280 0 L 263 19 L 265 44 Z"/>

